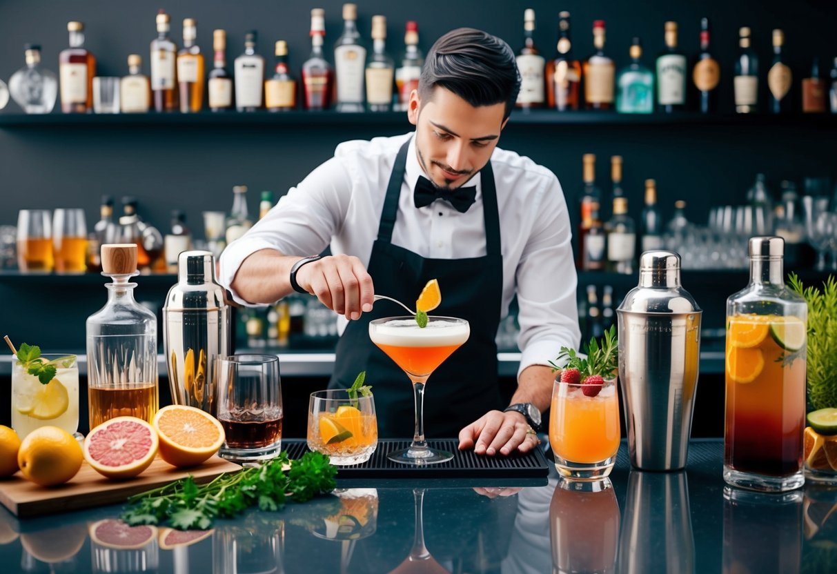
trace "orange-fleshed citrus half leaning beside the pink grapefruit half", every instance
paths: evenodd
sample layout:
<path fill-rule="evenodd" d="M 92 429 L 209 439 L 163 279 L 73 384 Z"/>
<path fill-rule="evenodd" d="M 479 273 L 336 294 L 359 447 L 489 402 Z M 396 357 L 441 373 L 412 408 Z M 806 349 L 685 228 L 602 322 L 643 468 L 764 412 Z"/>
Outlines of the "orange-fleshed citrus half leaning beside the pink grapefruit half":
<path fill-rule="evenodd" d="M 177 467 L 203 463 L 221 448 L 223 427 L 211 414 L 185 405 L 162 407 L 151 422 L 160 435 L 160 456 Z"/>

